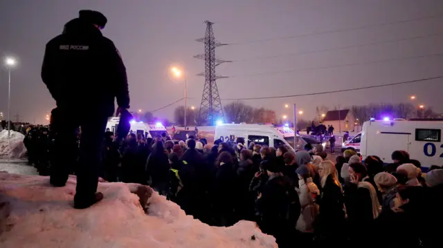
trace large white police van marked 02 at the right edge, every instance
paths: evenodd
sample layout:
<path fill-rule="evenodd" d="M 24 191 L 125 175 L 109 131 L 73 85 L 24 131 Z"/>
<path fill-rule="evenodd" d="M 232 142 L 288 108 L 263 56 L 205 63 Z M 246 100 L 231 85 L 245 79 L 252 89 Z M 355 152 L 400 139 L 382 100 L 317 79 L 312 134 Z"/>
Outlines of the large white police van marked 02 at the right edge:
<path fill-rule="evenodd" d="M 407 151 L 423 167 L 443 164 L 443 120 L 371 120 L 363 124 L 360 152 L 363 160 L 377 155 L 392 163 L 396 150 Z"/>

